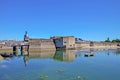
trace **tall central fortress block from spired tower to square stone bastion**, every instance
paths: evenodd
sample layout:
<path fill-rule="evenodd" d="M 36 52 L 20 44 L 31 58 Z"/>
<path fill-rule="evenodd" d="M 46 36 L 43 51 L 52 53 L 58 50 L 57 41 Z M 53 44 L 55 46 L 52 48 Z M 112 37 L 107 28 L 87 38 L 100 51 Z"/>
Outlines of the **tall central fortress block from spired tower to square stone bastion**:
<path fill-rule="evenodd" d="M 28 42 L 31 48 L 40 49 L 71 49 L 75 48 L 74 36 L 54 36 L 50 39 L 29 38 L 28 33 L 24 35 L 24 41 Z"/>

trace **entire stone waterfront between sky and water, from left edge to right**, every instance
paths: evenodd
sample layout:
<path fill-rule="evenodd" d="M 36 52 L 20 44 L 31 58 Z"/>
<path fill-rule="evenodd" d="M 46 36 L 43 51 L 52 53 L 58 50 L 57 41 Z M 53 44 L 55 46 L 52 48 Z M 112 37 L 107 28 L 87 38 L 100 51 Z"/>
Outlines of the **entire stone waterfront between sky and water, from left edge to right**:
<path fill-rule="evenodd" d="M 120 48 L 120 43 L 84 41 L 79 38 L 75 38 L 74 36 L 53 36 L 49 39 L 30 38 L 27 32 L 25 32 L 23 41 L 0 41 L 0 53 L 18 53 L 18 50 L 24 53 L 26 51 L 49 51 L 81 48 L 115 49 Z"/>

